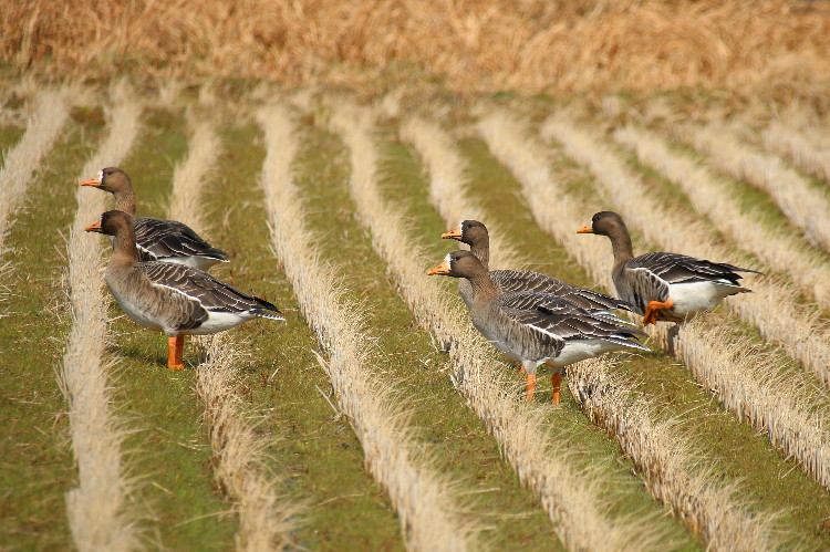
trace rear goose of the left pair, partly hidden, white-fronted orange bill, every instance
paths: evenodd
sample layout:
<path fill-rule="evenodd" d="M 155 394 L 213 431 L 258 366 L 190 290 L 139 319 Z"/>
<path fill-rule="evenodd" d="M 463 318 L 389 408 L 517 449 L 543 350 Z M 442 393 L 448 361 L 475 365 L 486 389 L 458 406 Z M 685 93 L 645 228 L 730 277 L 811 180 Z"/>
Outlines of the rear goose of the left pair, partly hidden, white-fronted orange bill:
<path fill-rule="evenodd" d="M 176 220 L 135 218 L 135 191 L 129 176 L 118 167 L 106 167 L 81 186 L 92 186 L 115 196 L 115 208 L 133 217 L 139 260 L 178 262 L 207 270 L 228 262 L 228 253 L 211 247 L 190 227 Z"/>

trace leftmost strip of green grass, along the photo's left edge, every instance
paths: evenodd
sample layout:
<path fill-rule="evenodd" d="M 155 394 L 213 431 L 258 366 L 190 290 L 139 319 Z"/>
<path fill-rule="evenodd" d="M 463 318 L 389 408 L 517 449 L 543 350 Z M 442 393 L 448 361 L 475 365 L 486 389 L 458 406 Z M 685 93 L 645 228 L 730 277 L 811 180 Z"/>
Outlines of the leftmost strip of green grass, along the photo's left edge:
<path fill-rule="evenodd" d="M 55 371 L 71 323 L 62 277 L 73 184 L 89 144 L 81 128 L 68 125 L 30 183 L 3 258 L 11 265 L 3 278 L 9 294 L 0 301 L 8 316 L 0 321 L 0 540 L 19 550 L 59 550 L 69 541 L 64 493 L 76 476 Z"/>

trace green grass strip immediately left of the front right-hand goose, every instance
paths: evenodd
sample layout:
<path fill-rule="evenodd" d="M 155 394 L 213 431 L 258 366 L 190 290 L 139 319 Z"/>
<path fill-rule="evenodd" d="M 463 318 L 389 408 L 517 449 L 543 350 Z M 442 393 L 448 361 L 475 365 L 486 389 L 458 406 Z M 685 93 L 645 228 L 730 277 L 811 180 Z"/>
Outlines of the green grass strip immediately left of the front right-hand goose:
<path fill-rule="evenodd" d="M 366 308 L 367 332 L 377 339 L 373 361 L 378 377 L 396 389 L 390 398 L 412 413 L 415 438 L 434 458 L 436 468 L 476 492 L 466 500 L 473 502 L 474 517 L 491 528 L 488 543 L 495 549 L 511 543 L 529 549 L 554 546 L 557 538 L 547 517 L 501 461 L 498 445 L 484 424 L 453 388 L 445 369 L 446 355 L 418 329 L 356 220 L 342 143 L 325 132 L 307 133 L 298 159 L 302 170 L 298 184 L 309 211 L 307 225 L 321 238 L 323 259 L 342 267 L 349 294 Z M 419 184 L 405 169 L 394 173 L 413 189 Z"/>

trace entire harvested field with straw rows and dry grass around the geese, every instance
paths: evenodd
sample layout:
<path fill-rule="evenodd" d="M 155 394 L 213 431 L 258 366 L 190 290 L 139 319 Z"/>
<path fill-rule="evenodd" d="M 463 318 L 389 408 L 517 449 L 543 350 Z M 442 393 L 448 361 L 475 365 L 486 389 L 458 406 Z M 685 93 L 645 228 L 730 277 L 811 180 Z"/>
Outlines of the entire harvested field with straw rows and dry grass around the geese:
<path fill-rule="evenodd" d="M 61 50 L 85 27 L 30 3 L 0 8 L 29 29 L 0 38 L 0 550 L 830 549 L 823 7 L 770 2 L 750 30 L 733 3 L 698 2 L 687 17 L 729 55 L 684 45 L 673 55 L 699 55 L 694 71 L 678 58 L 646 74 L 664 2 L 563 2 L 583 56 L 551 58 L 548 86 L 538 55 L 562 48 L 560 15 L 538 2 L 412 21 L 396 2 L 308 2 L 264 10 L 282 25 L 269 34 L 232 11 L 226 27 L 185 18 L 188 0 L 167 9 L 191 32 L 180 55 L 151 40 L 174 33 L 157 13 Z M 792 18 L 765 41 L 772 4 Z M 90 10 L 64 15 L 102 17 Z M 338 18 L 387 41 L 332 45 Z M 536 56 L 498 50 L 497 21 Z M 234 29 L 257 46 L 194 39 Z M 299 37 L 295 63 L 273 53 Z M 436 54 L 453 49 L 468 72 Z M 85 231 L 115 204 L 79 185 L 115 166 L 138 216 L 190 226 L 227 253 L 214 277 L 286 320 L 187 336 L 184 369 L 168 368 L 164 334 L 105 285 L 110 238 Z M 676 335 L 632 315 L 647 352 L 568 366 L 559 404 L 541 366 L 528 402 L 458 282 L 426 272 L 458 249 L 442 233 L 477 219 L 491 270 L 616 296 L 609 241 L 577 233 L 603 210 L 634 254 L 761 273 Z"/>

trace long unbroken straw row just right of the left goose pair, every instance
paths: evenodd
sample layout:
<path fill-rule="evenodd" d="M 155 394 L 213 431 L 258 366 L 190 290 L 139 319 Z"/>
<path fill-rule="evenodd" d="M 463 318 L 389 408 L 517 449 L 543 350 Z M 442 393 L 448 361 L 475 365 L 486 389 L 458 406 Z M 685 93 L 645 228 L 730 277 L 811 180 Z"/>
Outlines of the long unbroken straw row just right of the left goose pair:
<path fill-rule="evenodd" d="M 477 548 L 479 528 L 459 513 L 456 485 L 432 472 L 417 452 L 406 415 L 381 384 L 370 356 L 361 308 L 344 299 L 338 270 L 314 253 L 303 225 L 291 164 L 298 150 L 294 123 L 284 107 L 259 114 L 267 157 L 262 184 L 273 249 L 292 283 L 300 309 L 330 355 L 321 365 L 329 374 L 338 405 L 363 446 L 366 468 L 398 512 L 409 550 L 460 551 Z"/>

